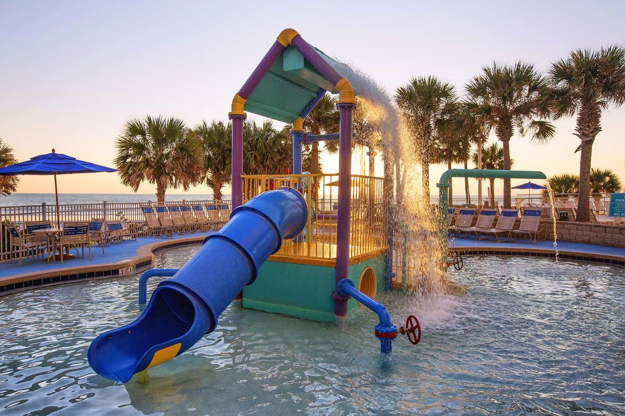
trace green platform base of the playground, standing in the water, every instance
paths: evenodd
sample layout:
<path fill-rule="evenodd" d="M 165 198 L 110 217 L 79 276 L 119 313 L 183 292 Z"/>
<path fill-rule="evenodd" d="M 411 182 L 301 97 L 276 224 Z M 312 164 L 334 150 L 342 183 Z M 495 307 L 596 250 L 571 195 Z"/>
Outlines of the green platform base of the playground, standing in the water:
<path fill-rule="evenodd" d="M 371 267 L 376 274 L 377 292 L 384 290 L 384 255 L 349 266 L 349 279 L 358 287 L 362 271 Z M 321 322 L 334 322 L 331 294 L 336 279 L 334 267 L 293 264 L 268 260 L 256 281 L 243 289 L 242 307 L 264 310 Z M 357 307 L 347 301 L 347 310 Z"/>

